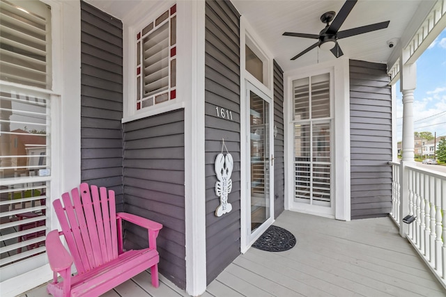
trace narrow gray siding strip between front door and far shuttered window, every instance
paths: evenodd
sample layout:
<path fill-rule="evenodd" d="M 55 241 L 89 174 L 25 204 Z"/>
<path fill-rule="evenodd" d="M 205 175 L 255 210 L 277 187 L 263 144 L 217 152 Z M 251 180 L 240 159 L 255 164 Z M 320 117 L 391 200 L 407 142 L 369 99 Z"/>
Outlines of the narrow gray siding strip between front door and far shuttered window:
<path fill-rule="evenodd" d="M 284 171 L 284 72 L 274 61 L 274 125 L 277 136 L 274 138 L 274 217 L 284 211 L 285 171 Z"/>

